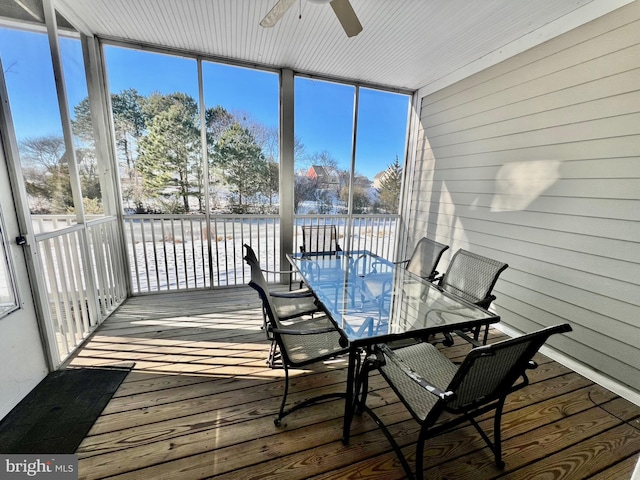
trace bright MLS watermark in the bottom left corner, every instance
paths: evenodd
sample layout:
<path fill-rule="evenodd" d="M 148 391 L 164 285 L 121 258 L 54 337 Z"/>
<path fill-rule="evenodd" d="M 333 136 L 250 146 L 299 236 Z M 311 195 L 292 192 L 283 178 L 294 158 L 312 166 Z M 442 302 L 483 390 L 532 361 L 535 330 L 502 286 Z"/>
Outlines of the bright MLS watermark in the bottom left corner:
<path fill-rule="evenodd" d="M 0 479 L 77 480 L 77 455 L 1 455 Z"/>

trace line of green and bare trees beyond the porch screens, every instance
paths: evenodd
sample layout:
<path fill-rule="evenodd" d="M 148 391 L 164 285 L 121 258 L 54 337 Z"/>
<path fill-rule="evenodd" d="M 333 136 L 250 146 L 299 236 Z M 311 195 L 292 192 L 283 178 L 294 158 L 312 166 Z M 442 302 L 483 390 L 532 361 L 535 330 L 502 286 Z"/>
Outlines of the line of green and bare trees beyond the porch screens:
<path fill-rule="evenodd" d="M 182 92 L 140 95 L 135 89 L 111 95 L 113 127 L 123 204 L 130 213 L 204 212 L 205 169 L 198 103 Z M 76 161 L 87 213 L 100 213 L 101 192 L 88 98 L 74 108 Z M 277 213 L 278 130 L 244 113 L 210 107 L 204 115 L 211 211 Z M 32 213 L 70 213 L 73 198 L 62 137 L 28 138 L 20 153 Z M 320 165 L 332 178 L 297 172 L 296 212 L 335 212 L 349 198 L 349 172 L 329 152 L 312 155 L 295 140 L 296 165 Z M 377 191 L 357 176 L 352 201 L 355 213 L 398 209 L 402 168 L 396 157 Z"/>

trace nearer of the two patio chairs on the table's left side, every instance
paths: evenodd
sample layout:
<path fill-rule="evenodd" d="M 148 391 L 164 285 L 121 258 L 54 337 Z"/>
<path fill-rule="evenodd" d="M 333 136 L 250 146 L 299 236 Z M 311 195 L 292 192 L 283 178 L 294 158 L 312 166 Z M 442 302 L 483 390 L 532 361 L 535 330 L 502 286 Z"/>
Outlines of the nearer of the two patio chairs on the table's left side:
<path fill-rule="evenodd" d="M 278 416 L 274 420 L 276 426 L 290 413 L 308 405 L 334 398 L 345 398 L 345 392 L 328 393 L 309 398 L 285 410 L 289 391 L 289 369 L 304 367 L 312 363 L 328 360 L 345 354 L 348 340 L 336 329 L 326 316 L 316 316 L 311 320 L 287 323 L 280 318 L 274 297 L 269 294 L 259 268 L 252 266 L 249 286 L 255 289 L 262 301 L 263 311 L 268 320 L 268 329 L 280 350 L 282 367 L 285 372 L 284 393 Z"/>

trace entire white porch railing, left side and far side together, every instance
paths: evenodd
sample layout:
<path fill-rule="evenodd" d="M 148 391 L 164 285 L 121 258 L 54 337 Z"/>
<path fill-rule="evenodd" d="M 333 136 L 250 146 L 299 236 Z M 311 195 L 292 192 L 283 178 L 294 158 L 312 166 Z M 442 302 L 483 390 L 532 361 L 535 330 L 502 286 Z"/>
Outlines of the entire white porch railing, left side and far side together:
<path fill-rule="evenodd" d="M 263 268 L 275 271 L 280 266 L 280 221 L 275 215 L 216 215 L 210 226 L 204 215 L 130 215 L 124 217 L 125 247 L 115 217 L 98 217 L 85 225 L 76 224 L 71 215 L 32 218 L 48 296 L 44 310 L 59 363 L 126 298 L 128 280 L 134 295 L 246 284 L 250 271 L 243 261 L 244 243 L 253 246 Z M 355 216 L 351 222 L 349 228 L 346 216 L 298 216 L 294 249 L 302 241 L 300 226 L 333 223 L 343 248 L 393 259 L 396 215 Z M 345 241 L 349 229 L 350 246 Z M 267 280 L 280 278 L 270 274 Z"/>

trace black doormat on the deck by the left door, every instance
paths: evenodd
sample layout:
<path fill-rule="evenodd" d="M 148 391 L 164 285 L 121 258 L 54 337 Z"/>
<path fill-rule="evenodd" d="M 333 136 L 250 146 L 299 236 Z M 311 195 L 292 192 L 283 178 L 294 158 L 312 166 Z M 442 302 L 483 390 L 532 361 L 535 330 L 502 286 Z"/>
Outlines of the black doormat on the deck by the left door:
<path fill-rule="evenodd" d="M 131 368 L 50 373 L 0 422 L 0 453 L 75 453 Z"/>

